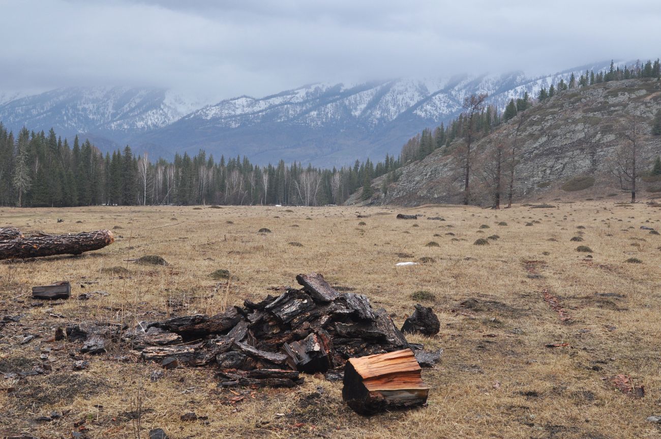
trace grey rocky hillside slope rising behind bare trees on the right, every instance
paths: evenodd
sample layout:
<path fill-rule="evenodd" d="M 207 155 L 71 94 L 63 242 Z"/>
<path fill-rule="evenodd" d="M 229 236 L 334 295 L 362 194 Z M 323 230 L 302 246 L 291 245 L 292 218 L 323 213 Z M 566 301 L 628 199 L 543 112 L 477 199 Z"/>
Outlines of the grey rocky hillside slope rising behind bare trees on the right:
<path fill-rule="evenodd" d="M 648 175 L 661 154 L 661 136 L 651 122 L 661 108 L 661 82 L 631 79 L 580 89 L 535 104 L 473 144 L 471 202 L 490 206 L 494 200 L 497 145 L 502 145 L 502 197 L 508 193 L 511 148 L 517 130 L 514 201 L 571 200 L 629 196 L 632 140 L 637 145 L 638 198 L 661 196 L 661 176 Z M 437 149 L 399 171 L 396 182 L 373 182 L 372 204 L 416 206 L 461 203 L 463 140 Z M 387 186 L 387 187 L 386 187 Z M 385 194 L 383 193 L 385 189 Z M 348 201 L 359 203 L 360 193 Z"/>

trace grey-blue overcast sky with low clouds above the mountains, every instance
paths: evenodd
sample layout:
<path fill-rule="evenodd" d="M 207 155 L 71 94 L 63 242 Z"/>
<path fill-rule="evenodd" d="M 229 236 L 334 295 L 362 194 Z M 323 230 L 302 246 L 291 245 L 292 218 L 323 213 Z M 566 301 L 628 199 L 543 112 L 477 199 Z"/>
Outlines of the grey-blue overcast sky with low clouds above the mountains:
<path fill-rule="evenodd" d="M 0 0 L 0 93 L 156 85 L 214 99 L 319 81 L 554 73 L 656 58 L 659 0 Z"/>

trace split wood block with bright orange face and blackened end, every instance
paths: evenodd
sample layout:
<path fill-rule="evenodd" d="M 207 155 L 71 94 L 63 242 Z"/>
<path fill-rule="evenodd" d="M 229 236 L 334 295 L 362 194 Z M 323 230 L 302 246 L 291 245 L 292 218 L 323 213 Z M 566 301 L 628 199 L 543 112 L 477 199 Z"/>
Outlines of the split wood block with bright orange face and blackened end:
<path fill-rule="evenodd" d="M 424 405 L 429 387 L 420 371 L 410 349 L 350 358 L 344 366 L 342 399 L 361 415 Z"/>

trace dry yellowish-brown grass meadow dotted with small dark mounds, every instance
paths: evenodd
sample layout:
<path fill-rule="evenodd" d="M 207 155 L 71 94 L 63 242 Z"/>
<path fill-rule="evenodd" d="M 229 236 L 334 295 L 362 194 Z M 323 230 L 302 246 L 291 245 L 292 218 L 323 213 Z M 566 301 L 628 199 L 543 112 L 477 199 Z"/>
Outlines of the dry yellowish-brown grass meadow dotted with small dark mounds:
<path fill-rule="evenodd" d="M 396 220 L 398 212 L 445 221 Z M 23 379 L 0 375 L 0 431 L 44 439 L 72 432 L 146 438 L 157 427 L 173 439 L 659 438 L 660 427 L 646 417 L 661 414 L 661 235 L 640 227 L 660 229 L 660 221 L 660 208 L 600 201 L 500 211 L 3 208 L 0 225 L 24 232 L 107 228 L 118 237 L 80 257 L 0 263 L 0 317 L 22 315 L 0 329 L 0 372 L 52 365 L 50 373 Z M 271 233 L 258 233 L 262 227 Z M 499 238 L 473 244 L 492 235 Z M 583 241 L 570 241 L 575 236 Z M 592 252 L 579 253 L 578 245 Z M 170 265 L 126 261 L 142 255 L 160 255 Z M 395 267 L 421 257 L 434 262 Z M 625 262 L 630 258 L 642 263 Z M 128 274 L 104 270 L 115 266 Z M 208 276 L 217 268 L 231 272 L 229 285 Z M 65 323 L 134 325 L 216 313 L 313 271 L 366 294 L 397 325 L 417 302 L 412 294 L 432 295 L 422 303 L 438 313 L 440 334 L 408 337 L 444 348 L 441 364 L 423 370 L 428 407 L 366 418 L 342 404 L 341 383 L 323 376 L 306 377 L 294 389 L 230 391 L 217 387 L 206 368 L 169 370 L 152 381 L 159 364 L 143 364 L 119 344 L 90 356 L 67 342 L 47 342 Z M 63 279 L 71 281 L 71 299 L 32 306 L 31 286 Z M 77 299 L 97 290 L 108 294 Z M 20 344 L 26 335 L 35 339 Z M 91 366 L 72 371 L 76 359 Z M 617 389 L 618 374 L 644 386 L 644 397 Z M 139 420 L 130 413 L 137 407 Z M 63 416 L 36 420 L 54 411 Z M 180 420 L 188 412 L 202 418 Z"/>

